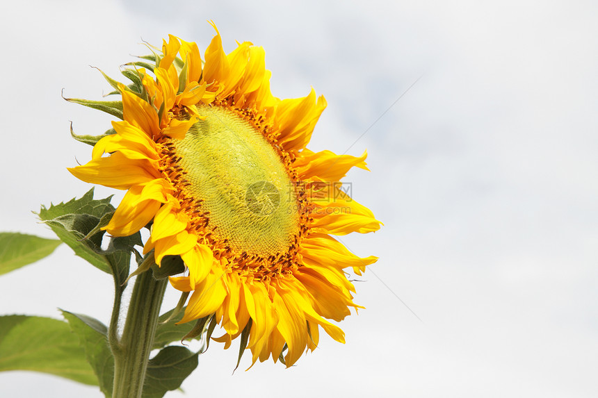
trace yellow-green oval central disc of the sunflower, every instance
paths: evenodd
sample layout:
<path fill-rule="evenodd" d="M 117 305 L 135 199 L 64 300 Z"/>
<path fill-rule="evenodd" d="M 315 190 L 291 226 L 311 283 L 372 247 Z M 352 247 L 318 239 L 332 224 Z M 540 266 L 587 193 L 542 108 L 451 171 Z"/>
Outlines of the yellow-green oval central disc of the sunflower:
<path fill-rule="evenodd" d="M 277 256 L 299 233 L 293 182 L 282 158 L 248 119 L 225 106 L 197 105 L 204 120 L 171 143 L 186 191 L 209 212 L 213 237 L 241 254 Z"/>

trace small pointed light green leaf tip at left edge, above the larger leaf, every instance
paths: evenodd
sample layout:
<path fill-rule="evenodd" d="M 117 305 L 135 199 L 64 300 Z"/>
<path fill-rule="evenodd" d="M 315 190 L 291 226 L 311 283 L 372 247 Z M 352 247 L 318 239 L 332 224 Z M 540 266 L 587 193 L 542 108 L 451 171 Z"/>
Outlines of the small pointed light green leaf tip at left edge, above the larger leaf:
<path fill-rule="evenodd" d="M 49 256 L 60 243 L 35 235 L 0 232 L 0 275 Z"/>

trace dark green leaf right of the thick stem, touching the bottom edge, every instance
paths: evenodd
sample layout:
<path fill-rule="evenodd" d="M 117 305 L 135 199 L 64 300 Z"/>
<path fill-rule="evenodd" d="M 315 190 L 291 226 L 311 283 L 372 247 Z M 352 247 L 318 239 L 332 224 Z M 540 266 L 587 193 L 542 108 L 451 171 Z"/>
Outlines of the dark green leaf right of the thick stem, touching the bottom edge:
<path fill-rule="evenodd" d="M 180 346 L 170 346 L 162 349 L 147 364 L 143 398 L 161 398 L 166 392 L 176 390 L 181 386 L 195 367 L 197 356 L 189 349 Z"/>

